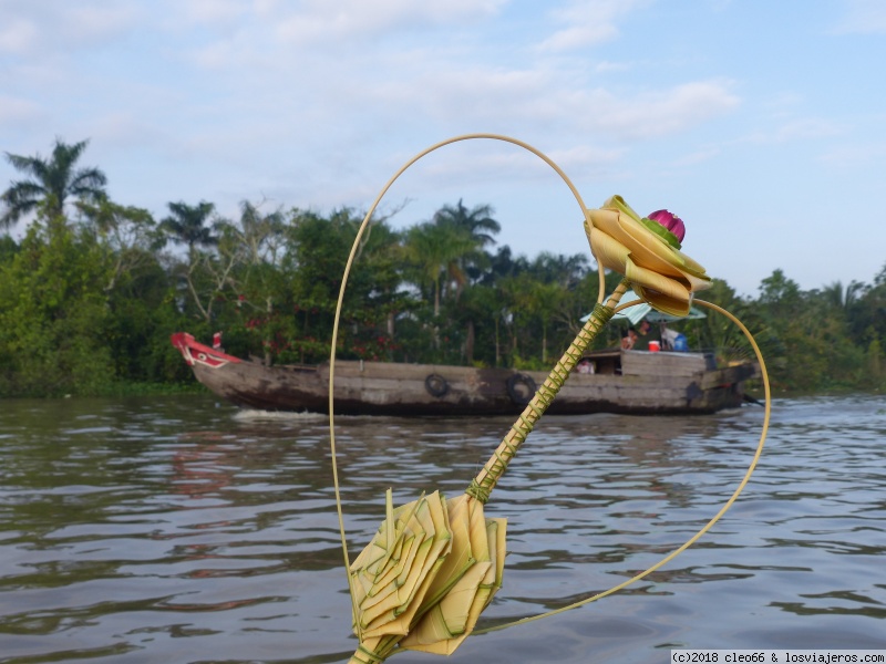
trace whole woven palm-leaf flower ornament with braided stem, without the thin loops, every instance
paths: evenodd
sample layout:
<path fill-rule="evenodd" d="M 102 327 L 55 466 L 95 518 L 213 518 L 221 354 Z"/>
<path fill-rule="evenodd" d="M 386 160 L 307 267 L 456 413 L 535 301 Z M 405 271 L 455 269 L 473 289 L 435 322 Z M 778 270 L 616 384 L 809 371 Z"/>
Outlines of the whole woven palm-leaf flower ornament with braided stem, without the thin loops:
<path fill-rule="evenodd" d="M 463 495 L 434 491 L 394 509 L 389 489 L 387 518 L 349 570 L 360 641 L 352 664 L 379 664 L 398 650 L 451 654 L 467 637 L 504 572 L 506 521 L 485 518 L 484 505 L 621 295 L 631 287 L 659 311 L 686 315 L 692 294 L 710 286 L 704 268 L 680 251 L 684 225 L 667 210 L 640 218 L 614 196 L 585 211 L 585 230 L 601 277 L 608 268 L 625 279 L 595 307 Z"/>

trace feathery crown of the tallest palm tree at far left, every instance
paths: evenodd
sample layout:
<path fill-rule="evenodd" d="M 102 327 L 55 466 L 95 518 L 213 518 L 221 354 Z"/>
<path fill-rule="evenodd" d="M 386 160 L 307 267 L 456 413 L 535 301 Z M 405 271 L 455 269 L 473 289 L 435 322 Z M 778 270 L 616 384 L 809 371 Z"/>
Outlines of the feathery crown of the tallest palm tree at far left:
<path fill-rule="evenodd" d="M 16 170 L 30 175 L 31 179 L 10 183 L 9 189 L 0 196 L 7 208 L 0 216 L 0 228 L 9 228 L 41 205 L 49 217 L 61 217 L 71 197 L 81 201 L 101 200 L 107 184 L 104 173 L 97 168 L 75 168 L 86 145 L 89 141 L 68 145 L 55 138 L 49 159 L 40 155 L 25 157 L 6 153 Z"/>

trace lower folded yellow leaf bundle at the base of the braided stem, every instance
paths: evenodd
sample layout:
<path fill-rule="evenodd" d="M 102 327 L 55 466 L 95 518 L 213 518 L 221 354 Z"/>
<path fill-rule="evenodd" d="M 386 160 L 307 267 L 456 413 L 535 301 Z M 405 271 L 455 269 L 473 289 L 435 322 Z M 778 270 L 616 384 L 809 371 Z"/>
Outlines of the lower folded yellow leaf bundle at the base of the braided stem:
<path fill-rule="evenodd" d="M 502 585 L 505 519 L 486 519 L 483 504 L 439 491 L 398 509 L 351 564 L 352 662 L 381 661 L 398 645 L 452 653 Z"/>

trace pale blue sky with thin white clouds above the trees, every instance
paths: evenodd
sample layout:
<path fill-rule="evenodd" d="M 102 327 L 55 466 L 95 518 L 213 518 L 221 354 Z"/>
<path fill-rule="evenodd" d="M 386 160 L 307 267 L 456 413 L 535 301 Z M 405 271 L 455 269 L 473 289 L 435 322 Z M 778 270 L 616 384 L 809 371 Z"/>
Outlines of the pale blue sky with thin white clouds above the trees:
<path fill-rule="evenodd" d="M 0 0 L 0 152 L 89 139 L 111 198 L 367 210 L 415 155 L 508 136 L 587 207 L 686 222 L 754 297 L 886 268 L 882 0 Z M 0 187 L 21 175 L 0 159 Z M 579 201 L 496 139 L 431 152 L 396 228 L 491 205 L 515 253 L 589 248 Z M 21 232 L 21 227 L 13 229 Z"/>

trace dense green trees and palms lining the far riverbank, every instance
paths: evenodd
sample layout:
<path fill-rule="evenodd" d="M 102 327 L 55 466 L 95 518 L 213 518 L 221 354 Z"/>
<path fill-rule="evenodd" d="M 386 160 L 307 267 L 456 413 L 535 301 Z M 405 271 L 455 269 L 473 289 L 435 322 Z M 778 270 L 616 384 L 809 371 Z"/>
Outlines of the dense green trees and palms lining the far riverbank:
<path fill-rule="evenodd" d="M 7 154 L 25 177 L 2 195 L 0 231 L 30 224 L 18 241 L 0 235 L 0 396 L 182 388 L 193 378 L 169 344 L 176 331 L 223 331 L 228 352 L 269 363 L 329 356 L 362 214 L 244 201 L 225 219 L 212 203 L 173 201 L 157 219 L 110 200 L 105 175 L 78 167 L 86 145 Z M 597 272 L 589 252 L 514 256 L 498 231 L 488 206 L 462 201 L 405 230 L 377 219 L 349 280 L 340 356 L 549 367 L 593 308 Z M 758 336 L 777 390 L 886 383 L 886 267 L 869 284 L 811 291 L 775 270 L 755 299 L 724 281 L 704 299 Z M 721 359 L 750 354 L 722 317 L 680 326 Z M 597 346 L 618 339 L 609 325 Z"/>

